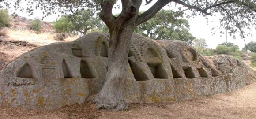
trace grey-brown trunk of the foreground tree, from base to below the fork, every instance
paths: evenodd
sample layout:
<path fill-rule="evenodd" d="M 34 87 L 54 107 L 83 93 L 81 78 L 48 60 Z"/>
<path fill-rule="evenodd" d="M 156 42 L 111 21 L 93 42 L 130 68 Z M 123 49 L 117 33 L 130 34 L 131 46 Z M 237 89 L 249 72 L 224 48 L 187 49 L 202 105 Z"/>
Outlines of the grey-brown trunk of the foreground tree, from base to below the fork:
<path fill-rule="evenodd" d="M 129 44 L 133 30 L 134 24 L 110 30 L 108 73 L 105 84 L 96 99 L 98 108 L 116 108 L 118 110 L 128 108 L 128 104 L 124 100 L 124 86 L 128 71 Z"/>

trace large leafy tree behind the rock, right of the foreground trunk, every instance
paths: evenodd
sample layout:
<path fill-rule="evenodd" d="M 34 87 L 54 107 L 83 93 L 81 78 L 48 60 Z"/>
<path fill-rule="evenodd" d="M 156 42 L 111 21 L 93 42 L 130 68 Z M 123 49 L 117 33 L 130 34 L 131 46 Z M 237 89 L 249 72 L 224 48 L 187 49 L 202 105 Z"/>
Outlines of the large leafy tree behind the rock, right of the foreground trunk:
<path fill-rule="evenodd" d="M 189 33 L 188 20 L 182 17 L 183 12 L 161 10 L 153 18 L 137 26 L 135 32 L 155 40 L 181 40 L 192 43 L 195 37 Z"/>

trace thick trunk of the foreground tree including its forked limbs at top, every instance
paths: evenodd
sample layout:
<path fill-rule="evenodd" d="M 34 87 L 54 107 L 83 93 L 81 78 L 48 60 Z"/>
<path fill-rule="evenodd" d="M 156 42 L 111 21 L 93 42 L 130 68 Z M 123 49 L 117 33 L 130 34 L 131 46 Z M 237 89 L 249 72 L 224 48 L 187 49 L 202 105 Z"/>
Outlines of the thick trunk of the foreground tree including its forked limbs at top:
<path fill-rule="evenodd" d="M 128 109 L 124 99 L 124 89 L 128 71 L 129 44 L 141 3 L 135 6 L 134 2 L 138 2 L 136 0 L 122 0 L 123 10 L 118 17 L 114 17 L 109 14 L 114 4 L 111 2 L 113 1 L 105 1 L 100 15 L 110 33 L 108 72 L 105 84 L 94 101 L 99 109 L 125 110 Z"/>

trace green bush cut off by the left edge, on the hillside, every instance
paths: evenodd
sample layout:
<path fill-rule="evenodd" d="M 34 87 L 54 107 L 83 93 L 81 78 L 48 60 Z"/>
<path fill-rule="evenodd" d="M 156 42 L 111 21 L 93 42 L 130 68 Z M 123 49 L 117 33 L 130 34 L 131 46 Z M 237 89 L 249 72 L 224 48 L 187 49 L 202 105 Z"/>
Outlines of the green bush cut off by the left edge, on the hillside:
<path fill-rule="evenodd" d="M 10 26 L 10 24 L 9 24 L 10 20 L 11 19 L 9 18 L 8 10 L 1 9 L 0 10 L 0 28 Z"/>

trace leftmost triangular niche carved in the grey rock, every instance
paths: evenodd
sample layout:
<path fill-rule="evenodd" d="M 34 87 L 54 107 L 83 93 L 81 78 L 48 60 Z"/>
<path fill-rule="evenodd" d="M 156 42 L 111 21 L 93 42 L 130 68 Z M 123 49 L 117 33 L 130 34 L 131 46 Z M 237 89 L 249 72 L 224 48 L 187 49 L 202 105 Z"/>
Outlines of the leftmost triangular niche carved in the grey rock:
<path fill-rule="evenodd" d="M 33 74 L 28 63 L 24 64 L 18 71 L 17 77 L 21 78 L 33 78 Z"/>

